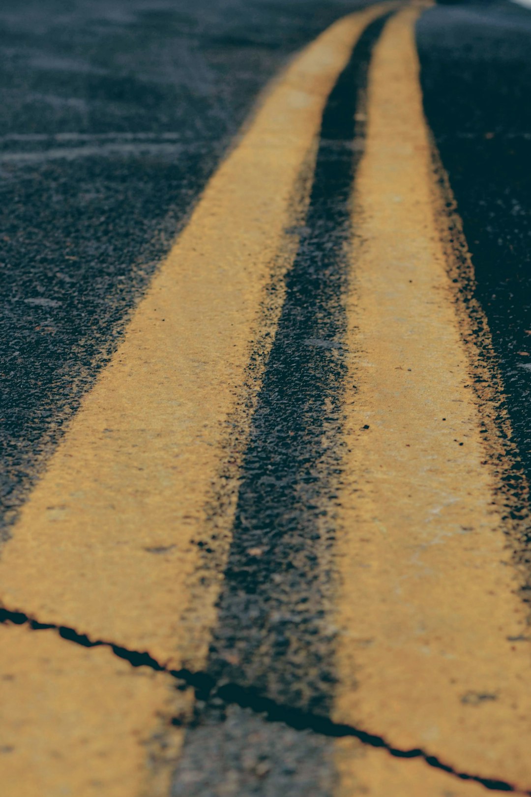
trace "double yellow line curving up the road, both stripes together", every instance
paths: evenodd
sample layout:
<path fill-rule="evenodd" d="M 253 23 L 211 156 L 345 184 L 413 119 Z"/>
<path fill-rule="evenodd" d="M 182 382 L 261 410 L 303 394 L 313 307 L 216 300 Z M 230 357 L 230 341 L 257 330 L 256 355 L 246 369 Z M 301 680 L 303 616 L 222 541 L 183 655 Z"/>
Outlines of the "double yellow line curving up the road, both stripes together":
<path fill-rule="evenodd" d="M 287 230 L 306 210 L 300 175 L 312 170 L 326 98 L 388 8 L 352 14 L 303 50 L 210 180 L 2 551 L 10 611 L 168 668 L 203 669 L 222 575 L 205 571 L 197 541 L 215 530 L 223 562 L 250 420 L 240 407 L 256 392 L 242 386 L 272 264 L 282 275 L 295 257 Z M 419 13 L 400 10 L 373 53 L 353 194 L 346 343 L 356 391 L 338 485 L 334 720 L 523 790 L 529 649 L 513 640 L 526 636 L 525 609 L 467 387 L 466 319 L 448 277 L 422 110 Z M 185 716 L 191 696 L 168 674 L 53 630 L 0 634 L 6 794 L 169 793 L 183 733 L 170 717 Z M 355 740 L 337 750 L 341 797 L 361 787 L 377 797 L 483 793 Z"/>

